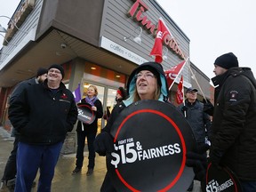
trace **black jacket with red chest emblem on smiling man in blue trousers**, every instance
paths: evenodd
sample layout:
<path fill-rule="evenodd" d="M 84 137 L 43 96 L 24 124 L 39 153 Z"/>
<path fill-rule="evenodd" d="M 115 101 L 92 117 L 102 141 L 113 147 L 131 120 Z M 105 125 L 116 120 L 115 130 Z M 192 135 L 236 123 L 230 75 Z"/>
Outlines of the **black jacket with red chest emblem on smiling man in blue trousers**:
<path fill-rule="evenodd" d="M 9 118 L 20 141 L 35 145 L 52 145 L 64 141 L 76 124 L 77 108 L 72 92 L 60 83 L 57 92 L 44 84 L 26 87 L 12 101 Z"/>

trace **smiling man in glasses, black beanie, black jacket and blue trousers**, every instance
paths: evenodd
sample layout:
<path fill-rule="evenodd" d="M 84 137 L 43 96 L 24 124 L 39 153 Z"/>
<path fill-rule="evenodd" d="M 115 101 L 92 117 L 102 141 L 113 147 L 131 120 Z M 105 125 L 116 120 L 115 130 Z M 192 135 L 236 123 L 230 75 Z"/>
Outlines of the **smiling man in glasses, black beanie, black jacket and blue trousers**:
<path fill-rule="evenodd" d="M 20 133 L 15 191 L 31 191 L 38 169 L 37 190 L 51 191 L 60 149 L 77 118 L 74 96 L 63 77 L 64 69 L 53 64 L 43 84 L 26 87 L 10 104 L 9 118 Z"/>

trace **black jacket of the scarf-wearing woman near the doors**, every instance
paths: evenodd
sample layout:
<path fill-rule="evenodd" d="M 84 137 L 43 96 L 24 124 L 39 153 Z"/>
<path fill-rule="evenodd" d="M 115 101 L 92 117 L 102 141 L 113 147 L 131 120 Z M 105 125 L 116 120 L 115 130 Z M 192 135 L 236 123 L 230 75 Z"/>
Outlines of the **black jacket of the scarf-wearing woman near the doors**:
<path fill-rule="evenodd" d="M 86 103 L 85 99 L 81 100 L 81 103 Z M 100 100 L 95 100 L 94 102 L 94 106 L 97 108 L 96 111 L 96 118 L 95 120 L 92 122 L 92 124 L 84 124 L 84 132 L 87 133 L 97 133 L 97 129 L 98 129 L 98 119 L 101 118 L 103 116 L 103 108 L 102 108 L 102 104 Z M 82 132 L 82 123 L 81 121 L 78 121 L 77 123 L 77 127 L 76 127 L 76 132 Z"/>

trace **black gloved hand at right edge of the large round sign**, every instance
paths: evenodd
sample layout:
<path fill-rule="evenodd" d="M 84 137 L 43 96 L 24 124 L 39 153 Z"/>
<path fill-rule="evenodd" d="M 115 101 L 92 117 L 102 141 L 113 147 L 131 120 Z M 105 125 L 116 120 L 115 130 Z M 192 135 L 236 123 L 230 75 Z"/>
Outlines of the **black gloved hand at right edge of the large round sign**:
<path fill-rule="evenodd" d="M 204 144 L 202 146 L 198 146 L 196 151 L 187 153 L 187 162 L 186 165 L 189 167 L 193 167 L 195 172 L 195 180 L 204 181 L 206 168 L 207 168 L 207 159 L 206 159 L 206 151 L 209 149 L 209 145 Z"/>

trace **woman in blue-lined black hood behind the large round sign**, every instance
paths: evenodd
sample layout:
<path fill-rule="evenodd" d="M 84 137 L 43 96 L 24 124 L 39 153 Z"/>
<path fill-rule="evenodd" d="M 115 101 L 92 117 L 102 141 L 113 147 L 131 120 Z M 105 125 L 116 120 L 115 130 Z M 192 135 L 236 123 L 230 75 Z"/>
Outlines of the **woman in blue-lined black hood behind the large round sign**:
<path fill-rule="evenodd" d="M 114 151 L 113 138 L 109 132 L 117 116 L 119 116 L 124 108 L 139 100 L 159 100 L 168 103 L 168 85 L 162 65 L 156 62 L 146 62 L 135 68 L 128 79 L 127 93 L 128 99 L 123 100 L 119 105 L 115 106 L 108 120 L 108 124 L 94 141 L 95 151 L 100 156 L 109 156 Z M 173 110 L 177 110 L 171 103 L 168 104 L 170 104 Z M 198 163 L 199 161 L 192 160 L 192 162 Z M 203 166 L 198 167 L 200 167 L 200 171 L 198 169 L 198 172 L 201 172 L 201 167 Z M 108 172 L 100 188 L 100 192 L 116 192 L 116 188 L 113 186 Z"/>

